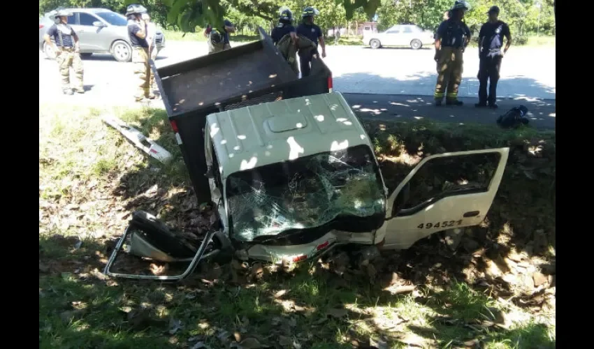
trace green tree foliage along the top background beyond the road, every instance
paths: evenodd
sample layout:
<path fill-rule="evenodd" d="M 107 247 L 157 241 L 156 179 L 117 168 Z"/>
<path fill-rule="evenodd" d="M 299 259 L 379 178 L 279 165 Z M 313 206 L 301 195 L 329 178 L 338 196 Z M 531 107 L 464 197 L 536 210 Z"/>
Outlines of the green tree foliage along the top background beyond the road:
<path fill-rule="evenodd" d="M 553 0 L 470 0 L 471 10 L 465 22 L 475 36 L 486 22 L 490 6 L 501 8 L 500 20 L 509 24 L 517 44 L 530 34 L 555 34 Z M 141 3 L 155 22 L 164 29 L 194 32 L 206 24 L 222 27 L 224 18 L 236 24 L 238 32 L 254 32 L 256 27 L 270 29 L 276 23 L 281 6 L 289 6 L 300 20 L 305 6 L 320 11 L 317 24 L 326 31 L 333 27 L 356 28 L 360 22 L 378 16 L 378 29 L 394 24 L 414 23 L 435 30 L 454 0 L 40 0 L 39 13 L 58 6 L 101 7 L 124 13 L 129 3 Z M 349 26 L 349 24 L 351 24 Z M 245 33 L 249 34 L 249 33 Z"/>

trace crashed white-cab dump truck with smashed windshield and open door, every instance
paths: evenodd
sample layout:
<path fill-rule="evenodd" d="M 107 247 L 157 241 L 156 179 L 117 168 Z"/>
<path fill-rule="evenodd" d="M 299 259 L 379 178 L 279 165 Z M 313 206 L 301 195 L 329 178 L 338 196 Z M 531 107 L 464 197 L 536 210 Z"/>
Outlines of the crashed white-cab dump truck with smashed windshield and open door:
<path fill-rule="evenodd" d="M 324 62 L 314 59 L 312 74 L 298 79 L 259 31 L 255 43 L 153 66 L 198 202 L 210 202 L 216 221 L 200 246 L 189 246 L 154 216 L 135 212 L 106 274 L 175 281 L 217 256 L 299 262 L 341 244 L 405 249 L 484 220 L 508 148 L 428 156 L 389 193 L 373 144 L 342 94 L 332 91 Z M 419 170 L 476 154 L 495 157 L 490 181 L 405 205 Z M 189 265 L 176 276 L 111 272 L 124 244 L 141 258 Z"/>

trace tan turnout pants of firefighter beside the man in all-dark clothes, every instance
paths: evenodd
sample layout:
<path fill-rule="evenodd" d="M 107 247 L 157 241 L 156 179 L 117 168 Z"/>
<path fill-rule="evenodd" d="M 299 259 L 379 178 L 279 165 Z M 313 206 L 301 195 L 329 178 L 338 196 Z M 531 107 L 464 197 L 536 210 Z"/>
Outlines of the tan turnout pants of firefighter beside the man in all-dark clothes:
<path fill-rule="evenodd" d="M 463 72 L 462 48 L 442 47 L 437 60 L 437 84 L 435 84 L 435 101 L 458 99 L 458 87 L 462 82 Z"/>

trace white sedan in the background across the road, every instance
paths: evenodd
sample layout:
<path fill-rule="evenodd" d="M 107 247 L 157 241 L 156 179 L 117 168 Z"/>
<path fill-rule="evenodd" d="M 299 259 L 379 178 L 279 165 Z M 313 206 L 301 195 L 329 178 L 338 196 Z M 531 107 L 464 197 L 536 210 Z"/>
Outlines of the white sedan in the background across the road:
<path fill-rule="evenodd" d="M 419 50 L 423 45 L 435 42 L 433 32 L 421 29 L 415 24 L 398 24 L 383 33 L 363 31 L 363 44 L 371 48 L 384 46 L 410 46 L 412 50 Z"/>

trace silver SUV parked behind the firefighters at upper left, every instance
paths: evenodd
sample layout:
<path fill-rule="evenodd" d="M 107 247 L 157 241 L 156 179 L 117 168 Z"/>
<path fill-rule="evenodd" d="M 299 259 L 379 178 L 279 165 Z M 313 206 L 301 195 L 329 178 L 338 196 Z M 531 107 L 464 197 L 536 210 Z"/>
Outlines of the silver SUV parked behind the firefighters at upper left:
<path fill-rule="evenodd" d="M 132 59 L 132 48 L 128 37 L 128 20 L 123 15 L 106 8 L 68 8 L 74 15 L 68 17 L 68 24 L 76 31 L 80 40 L 80 55 L 89 57 L 94 53 L 109 53 L 117 61 Z M 45 45 L 43 35 L 54 24 L 47 13 L 39 19 L 39 50 L 50 59 L 56 54 L 50 45 Z M 165 36 L 157 29 L 157 52 L 165 47 Z"/>

